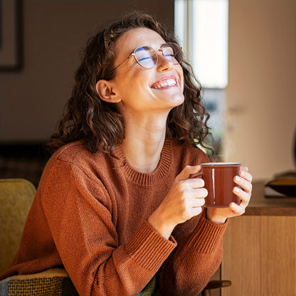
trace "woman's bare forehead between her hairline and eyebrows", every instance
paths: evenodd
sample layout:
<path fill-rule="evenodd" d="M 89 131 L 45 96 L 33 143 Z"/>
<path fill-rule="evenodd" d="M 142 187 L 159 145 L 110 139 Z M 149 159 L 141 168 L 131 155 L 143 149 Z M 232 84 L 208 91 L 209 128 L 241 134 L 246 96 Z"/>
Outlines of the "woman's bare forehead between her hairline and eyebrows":
<path fill-rule="evenodd" d="M 138 46 L 151 46 L 154 49 L 165 43 L 162 36 L 150 28 L 132 28 L 117 39 L 115 44 L 116 56 L 125 56 Z"/>

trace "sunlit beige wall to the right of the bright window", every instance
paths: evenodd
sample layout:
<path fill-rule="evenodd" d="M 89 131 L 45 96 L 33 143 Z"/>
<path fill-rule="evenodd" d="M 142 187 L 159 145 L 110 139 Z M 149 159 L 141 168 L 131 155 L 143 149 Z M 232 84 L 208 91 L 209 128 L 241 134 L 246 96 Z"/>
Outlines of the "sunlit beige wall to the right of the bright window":
<path fill-rule="evenodd" d="M 296 0 L 229 0 L 225 159 L 255 179 L 295 169 Z"/>

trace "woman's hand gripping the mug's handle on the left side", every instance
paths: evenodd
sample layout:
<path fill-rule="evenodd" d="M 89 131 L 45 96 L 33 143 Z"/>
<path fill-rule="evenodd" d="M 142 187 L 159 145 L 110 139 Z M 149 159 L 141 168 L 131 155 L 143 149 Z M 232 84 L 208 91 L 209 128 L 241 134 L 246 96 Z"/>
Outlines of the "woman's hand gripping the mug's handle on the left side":
<path fill-rule="evenodd" d="M 198 174 L 201 166 L 185 166 L 159 207 L 148 218 L 150 225 L 168 239 L 175 226 L 201 213 L 208 191 Z"/>

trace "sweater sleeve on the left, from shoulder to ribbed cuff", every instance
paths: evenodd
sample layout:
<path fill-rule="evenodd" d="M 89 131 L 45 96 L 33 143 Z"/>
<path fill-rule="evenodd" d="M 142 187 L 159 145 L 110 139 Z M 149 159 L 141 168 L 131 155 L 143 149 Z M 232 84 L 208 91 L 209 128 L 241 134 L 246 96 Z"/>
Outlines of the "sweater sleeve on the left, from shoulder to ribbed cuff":
<path fill-rule="evenodd" d="M 119 245 L 112 202 L 100 181 L 74 164 L 56 161 L 43 188 L 41 206 L 79 295 L 137 295 L 176 247 L 143 222 Z"/>

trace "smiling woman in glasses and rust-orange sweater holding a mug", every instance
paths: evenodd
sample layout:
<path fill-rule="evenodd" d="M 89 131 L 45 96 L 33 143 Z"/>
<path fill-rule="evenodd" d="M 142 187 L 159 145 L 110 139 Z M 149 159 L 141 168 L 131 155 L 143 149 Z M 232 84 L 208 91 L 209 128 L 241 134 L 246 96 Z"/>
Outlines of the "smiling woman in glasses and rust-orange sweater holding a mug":
<path fill-rule="evenodd" d="M 79 295 L 197 295 L 222 258 L 226 219 L 240 205 L 203 208 L 208 115 L 174 37 L 131 14 L 90 39 L 73 97 L 49 142 L 21 246 L 2 275 L 63 265 Z"/>

